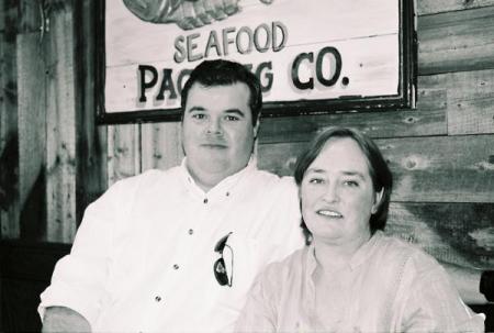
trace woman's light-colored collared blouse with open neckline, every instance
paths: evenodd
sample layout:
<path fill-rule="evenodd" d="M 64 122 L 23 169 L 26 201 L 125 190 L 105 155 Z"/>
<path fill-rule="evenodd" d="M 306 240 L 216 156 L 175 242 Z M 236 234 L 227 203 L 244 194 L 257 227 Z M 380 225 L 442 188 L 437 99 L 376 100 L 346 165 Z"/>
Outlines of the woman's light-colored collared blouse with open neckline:
<path fill-rule="evenodd" d="M 316 268 L 313 246 L 269 265 L 252 286 L 236 331 L 484 331 L 484 315 L 461 301 L 431 256 L 380 231 L 328 281 L 324 314 L 315 307 Z"/>

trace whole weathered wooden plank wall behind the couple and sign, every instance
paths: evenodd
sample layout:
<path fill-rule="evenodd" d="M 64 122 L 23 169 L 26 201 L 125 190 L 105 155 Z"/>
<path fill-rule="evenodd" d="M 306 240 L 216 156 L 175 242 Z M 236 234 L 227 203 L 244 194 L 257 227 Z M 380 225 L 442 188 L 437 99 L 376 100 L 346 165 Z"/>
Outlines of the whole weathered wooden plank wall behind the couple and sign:
<path fill-rule="evenodd" d="M 0 0 L 0 236 L 11 240 L 0 255 L 3 310 L 18 309 L 11 302 L 24 290 L 37 302 L 54 262 L 44 260 L 43 276 L 24 271 L 38 270 L 35 248 L 66 253 L 43 244 L 71 243 L 83 209 L 109 185 L 183 157 L 179 123 L 94 125 L 96 1 Z M 494 0 L 416 7 L 417 110 L 263 119 L 259 165 L 290 175 L 315 133 L 358 127 L 395 175 L 389 232 L 438 258 L 493 268 Z M 0 331 L 40 326 L 3 310 Z M 33 307 L 25 311 L 36 320 Z"/>

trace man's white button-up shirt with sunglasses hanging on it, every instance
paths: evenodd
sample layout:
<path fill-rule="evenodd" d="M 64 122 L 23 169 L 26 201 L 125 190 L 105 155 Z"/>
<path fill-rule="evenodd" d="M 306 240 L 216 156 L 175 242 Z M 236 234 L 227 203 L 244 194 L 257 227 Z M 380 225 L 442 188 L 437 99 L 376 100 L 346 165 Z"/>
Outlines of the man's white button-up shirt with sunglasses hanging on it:
<path fill-rule="evenodd" d="M 209 192 L 186 160 L 112 186 L 85 212 L 70 255 L 42 293 L 82 314 L 94 332 L 232 331 L 246 293 L 267 264 L 303 246 L 292 178 L 255 163 Z M 232 253 L 232 287 L 213 273 L 218 240 Z"/>

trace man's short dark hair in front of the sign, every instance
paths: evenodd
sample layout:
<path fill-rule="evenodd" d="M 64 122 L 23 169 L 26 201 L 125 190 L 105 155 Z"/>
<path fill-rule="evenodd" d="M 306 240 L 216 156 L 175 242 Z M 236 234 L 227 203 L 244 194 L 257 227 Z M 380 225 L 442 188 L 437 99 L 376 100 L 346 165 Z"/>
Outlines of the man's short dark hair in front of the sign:
<path fill-rule="evenodd" d="M 261 87 L 259 79 L 244 65 L 224 59 L 204 60 L 199 64 L 190 74 L 181 92 L 182 120 L 187 98 L 194 84 L 203 87 L 246 84 L 250 91 L 249 107 L 252 114 L 252 125 L 256 125 L 262 107 Z"/>

